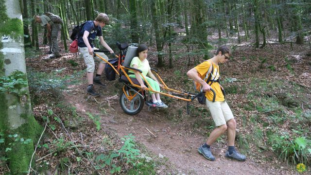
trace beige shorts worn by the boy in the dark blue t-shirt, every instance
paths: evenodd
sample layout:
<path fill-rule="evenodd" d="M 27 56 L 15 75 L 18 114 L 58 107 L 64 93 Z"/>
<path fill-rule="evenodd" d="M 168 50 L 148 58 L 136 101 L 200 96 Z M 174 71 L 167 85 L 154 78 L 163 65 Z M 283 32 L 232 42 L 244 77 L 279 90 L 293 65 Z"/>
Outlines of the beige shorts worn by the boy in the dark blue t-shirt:
<path fill-rule="evenodd" d="M 88 53 L 88 49 L 87 47 L 78 47 L 80 53 L 82 54 L 83 58 L 84 58 L 84 62 L 86 63 L 86 71 L 87 72 L 94 72 L 95 70 L 95 62 L 94 62 L 94 58 L 96 58 L 97 60 L 101 61 L 101 63 L 106 63 L 103 60 L 101 60 L 98 57 L 93 57 L 93 55 L 90 55 Z M 98 50 L 97 48 L 93 48 L 93 50 Z M 98 55 L 100 55 L 101 57 L 103 57 L 105 60 L 108 60 L 108 57 L 104 54 L 104 53 L 96 53 Z"/>

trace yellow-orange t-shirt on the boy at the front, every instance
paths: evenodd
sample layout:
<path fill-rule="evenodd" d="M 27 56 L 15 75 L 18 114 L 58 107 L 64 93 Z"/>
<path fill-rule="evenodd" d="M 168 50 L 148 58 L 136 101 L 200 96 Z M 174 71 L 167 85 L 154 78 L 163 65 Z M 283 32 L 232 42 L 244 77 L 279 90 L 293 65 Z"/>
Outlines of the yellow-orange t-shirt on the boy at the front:
<path fill-rule="evenodd" d="M 211 80 L 217 80 L 219 78 L 219 66 L 212 63 L 213 67 L 214 67 L 214 71 L 213 74 L 211 76 Z M 203 63 L 199 64 L 198 66 L 194 67 L 194 69 L 196 69 L 199 73 L 199 76 L 204 80 L 207 71 L 209 69 L 209 67 L 211 66 L 211 61 L 204 61 Z M 208 76 L 207 76 L 208 77 Z M 205 80 L 207 81 L 207 80 Z M 209 82 L 208 84 L 210 84 L 211 82 Z M 210 86 L 212 89 L 214 89 L 215 93 L 216 93 L 216 98 L 215 98 L 215 102 L 223 102 L 225 101 L 225 97 L 224 94 L 222 92 L 222 89 L 219 86 L 218 82 L 213 82 L 212 85 Z M 205 93 L 205 96 L 207 98 L 207 100 L 209 101 L 213 101 L 213 92 L 209 91 Z"/>

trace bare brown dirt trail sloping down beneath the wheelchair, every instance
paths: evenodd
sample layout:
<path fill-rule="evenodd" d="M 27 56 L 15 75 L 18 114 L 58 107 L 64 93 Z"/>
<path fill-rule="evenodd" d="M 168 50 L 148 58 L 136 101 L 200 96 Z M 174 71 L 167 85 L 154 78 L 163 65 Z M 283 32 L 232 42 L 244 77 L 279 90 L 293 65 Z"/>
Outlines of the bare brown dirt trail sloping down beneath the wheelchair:
<path fill-rule="evenodd" d="M 118 95 L 108 95 L 107 89 L 112 89 L 110 85 L 107 88 L 95 87 L 103 95 L 97 97 L 89 96 L 85 92 L 84 86 L 72 87 L 70 91 L 65 93 L 65 98 L 69 103 L 77 107 L 77 111 L 85 114 L 91 112 L 99 114 L 102 118 L 103 128 L 112 129 L 117 132 L 120 137 L 133 133 L 136 140 L 146 146 L 155 156 L 159 154 L 168 158 L 173 168 L 177 170 L 174 173 L 180 175 L 265 175 L 265 174 L 293 174 L 288 170 L 270 165 L 256 163 L 248 158 L 245 162 L 230 160 L 224 157 L 225 144 L 215 143 L 212 152 L 216 157 L 216 161 L 209 161 L 202 155 L 198 154 L 197 148 L 207 139 L 200 133 L 194 133 L 191 129 L 182 124 L 174 124 L 168 121 L 165 116 L 160 116 L 161 111 L 152 109 L 148 111 L 147 106 L 135 115 L 125 114 L 119 105 Z M 106 114 L 102 115 L 99 106 L 106 105 Z M 170 110 L 161 109 L 161 110 Z M 152 136 L 146 129 L 148 128 L 155 136 Z M 167 174 L 165 169 L 158 170 L 157 174 Z M 295 174 L 295 173 L 294 173 Z"/>

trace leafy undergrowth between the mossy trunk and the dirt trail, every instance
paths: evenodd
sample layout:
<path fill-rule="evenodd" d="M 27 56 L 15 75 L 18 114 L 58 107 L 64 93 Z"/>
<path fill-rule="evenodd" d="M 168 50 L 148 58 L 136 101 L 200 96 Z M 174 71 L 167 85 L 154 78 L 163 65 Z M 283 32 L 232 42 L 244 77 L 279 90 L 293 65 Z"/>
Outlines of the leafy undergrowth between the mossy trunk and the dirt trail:
<path fill-rule="evenodd" d="M 37 73 L 29 77 L 35 79 L 34 84 L 30 82 L 35 118 L 42 125 L 47 123 L 36 151 L 34 172 L 155 175 L 157 167 L 167 164 L 149 155 L 131 134 L 120 138 L 115 131 L 103 128 L 98 115 L 79 114 L 63 101 L 62 90 L 72 85 L 66 76 Z M 81 74 L 77 72 L 73 77 L 81 79 Z"/>

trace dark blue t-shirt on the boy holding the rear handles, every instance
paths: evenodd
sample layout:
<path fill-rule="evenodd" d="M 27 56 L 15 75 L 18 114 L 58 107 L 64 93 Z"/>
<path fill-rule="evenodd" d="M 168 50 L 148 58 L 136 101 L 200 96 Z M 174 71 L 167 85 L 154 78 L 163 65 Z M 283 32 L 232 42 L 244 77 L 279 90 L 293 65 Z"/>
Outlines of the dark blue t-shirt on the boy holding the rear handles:
<path fill-rule="evenodd" d="M 79 37 L 78 37 L 78 46 L 79 47 L 86 47 L 86 44 L 83 41 L 83 34 L 84 31 L 89 32 L 89 35 L 87 36 L 87 40 L 88 43 L 91 45 L 91 47 L 93 48 L 93 41 L 95 39 L 96 36 L 103 36 L 103 32 L 102 32 L 102 28 L 101 26 L 95 26 L 94 21 L 87 21 L 82 30 L 79 33 Z"/>

